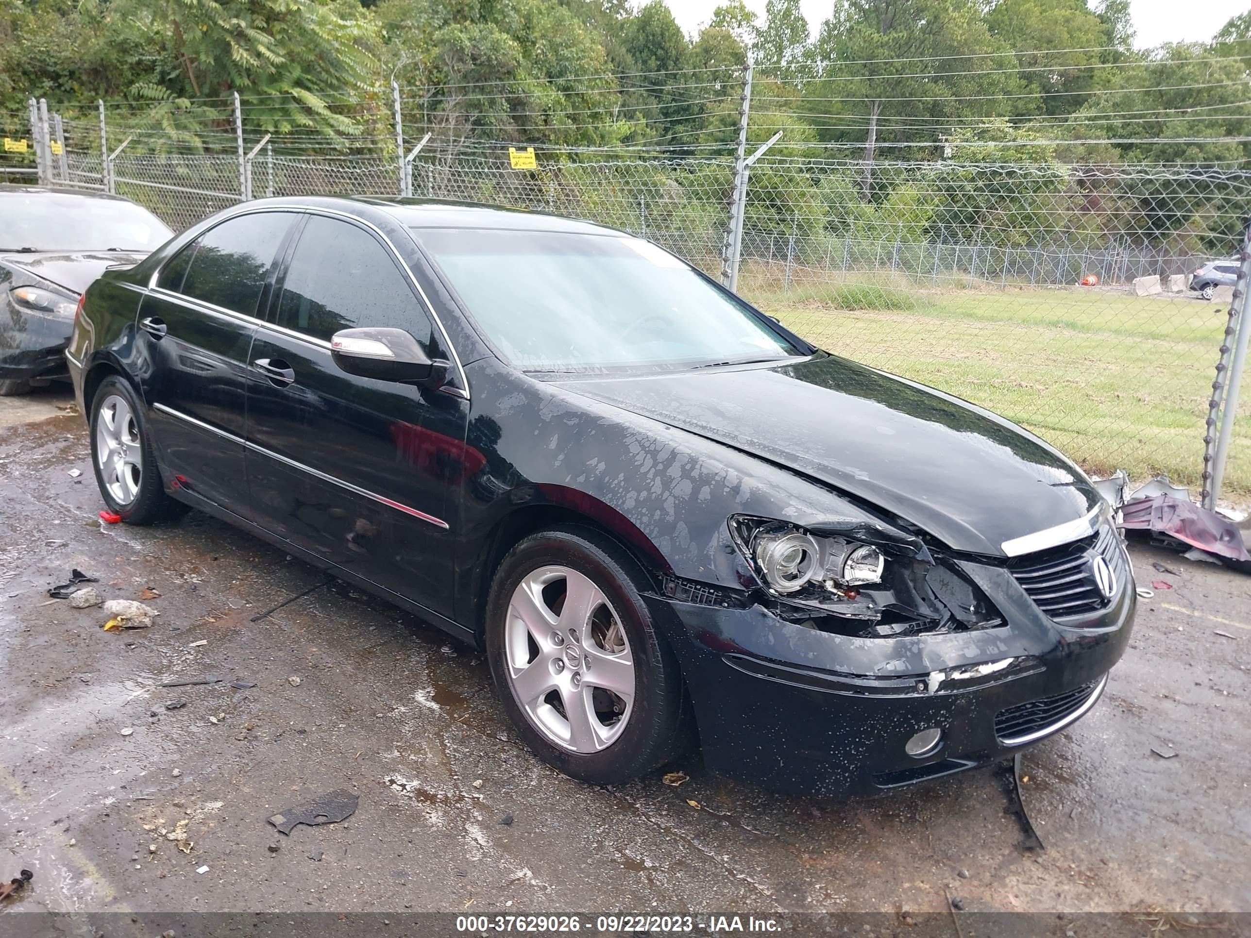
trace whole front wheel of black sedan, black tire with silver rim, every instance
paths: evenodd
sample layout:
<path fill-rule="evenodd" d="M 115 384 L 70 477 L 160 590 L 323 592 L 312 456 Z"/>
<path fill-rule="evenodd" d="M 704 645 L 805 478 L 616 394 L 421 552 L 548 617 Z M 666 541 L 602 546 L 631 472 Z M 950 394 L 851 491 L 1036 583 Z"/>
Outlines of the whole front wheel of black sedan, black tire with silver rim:
<path fill-rule="evenodd" d="M 540 759 L 583 782 L 629 782 L 689 744 L 647 588 L 626 552 L 583 528 L 525 538 L 492 582 L 487 659 L 504 710 Z"/>

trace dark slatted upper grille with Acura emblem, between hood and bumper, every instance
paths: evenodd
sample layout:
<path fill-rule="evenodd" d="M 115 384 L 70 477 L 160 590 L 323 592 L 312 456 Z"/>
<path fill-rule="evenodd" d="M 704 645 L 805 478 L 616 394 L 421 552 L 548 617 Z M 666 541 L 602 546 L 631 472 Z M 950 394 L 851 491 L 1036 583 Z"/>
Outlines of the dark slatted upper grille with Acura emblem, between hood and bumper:
<path fill-rule="evenodd" d="M 1117 592 L 1125 589 L 1130 570 L 1121 537 L 1108 525 L 1072 544 L 1020 557 L 1008 570 L 1042 612 L 1052 619 L 1067 619 L 1097 613 L 1112 602 L 1095 579 L 1096 557 L 1107 562 L 1116 577 Z"/>

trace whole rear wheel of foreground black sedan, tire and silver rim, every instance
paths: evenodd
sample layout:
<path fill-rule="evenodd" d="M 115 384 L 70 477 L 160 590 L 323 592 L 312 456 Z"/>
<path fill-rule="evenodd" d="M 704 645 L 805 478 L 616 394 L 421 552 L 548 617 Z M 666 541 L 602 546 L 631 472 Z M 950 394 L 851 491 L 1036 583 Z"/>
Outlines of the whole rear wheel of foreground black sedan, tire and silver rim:
<path fill-rule="evenodd" d="M 175 518 L 186 508 L 161 484 L 143 403 L 118 375 L 105 378 L 91 398 L 91 466 L 109 510 L 126 524 Z"/>

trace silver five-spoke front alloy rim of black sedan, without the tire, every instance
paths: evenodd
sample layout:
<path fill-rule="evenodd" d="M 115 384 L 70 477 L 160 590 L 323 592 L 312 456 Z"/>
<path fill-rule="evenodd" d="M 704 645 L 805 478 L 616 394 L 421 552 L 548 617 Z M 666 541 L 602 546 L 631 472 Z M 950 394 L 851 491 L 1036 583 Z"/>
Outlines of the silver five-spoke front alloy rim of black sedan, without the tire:
<path fill-rule="evenodd" d="M 530 724 L 575 753 L 597 753 L 626 729 L 634 659 L 608 598 L 568 567 L 540 567 L 508 604 L 508 683 Z"/>

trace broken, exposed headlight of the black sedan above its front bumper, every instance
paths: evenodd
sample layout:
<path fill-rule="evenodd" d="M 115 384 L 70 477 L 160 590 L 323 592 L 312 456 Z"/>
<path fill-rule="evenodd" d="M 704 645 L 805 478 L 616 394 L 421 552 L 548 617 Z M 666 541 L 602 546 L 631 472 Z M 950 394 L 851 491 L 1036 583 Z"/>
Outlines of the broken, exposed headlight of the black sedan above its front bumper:
<path fill-rule="evenodd" d="M 786 522 L 732 518 L 731 532 L 774 593 L 796 593 L 809 583 L 831 592 L 881 583 L 886 570 L 886 557 L 872 544 L 812 534 Z"/>

